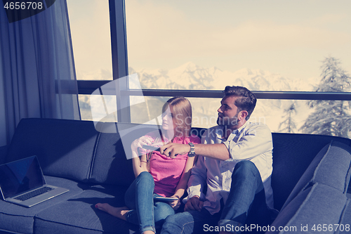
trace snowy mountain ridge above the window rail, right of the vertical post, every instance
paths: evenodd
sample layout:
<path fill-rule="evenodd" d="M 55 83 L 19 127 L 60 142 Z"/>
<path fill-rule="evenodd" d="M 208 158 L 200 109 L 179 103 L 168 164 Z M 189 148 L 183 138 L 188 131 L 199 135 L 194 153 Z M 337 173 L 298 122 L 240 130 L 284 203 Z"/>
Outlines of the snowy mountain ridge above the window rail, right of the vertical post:
<path fill-rule="evenodd" d="M 129 74 L 138 73 L 143 89 L 216 89 L 227 85 L 245 86 L 250 90 L 312 91 L 310 81 L 289 80 L 280 74 L 243 68 L 228 72 L 217 67 L 204 68 L 192 62 L 170 70 L 140 70 L 130 68 Z M 316 81 L 318 82 L 318 81 Z"/>

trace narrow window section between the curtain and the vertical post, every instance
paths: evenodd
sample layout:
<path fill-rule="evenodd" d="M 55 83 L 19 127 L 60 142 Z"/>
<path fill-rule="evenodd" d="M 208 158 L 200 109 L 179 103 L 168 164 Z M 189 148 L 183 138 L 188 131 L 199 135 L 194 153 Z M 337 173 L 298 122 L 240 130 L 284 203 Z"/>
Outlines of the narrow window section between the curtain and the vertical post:
<path fill-rule="evenodd" d="M 67 8 L 77 80 L 112 80 L 109 1 L 67 0 Z M 79 106 L 91 120 L 90 96 L 79 95 Z"/>

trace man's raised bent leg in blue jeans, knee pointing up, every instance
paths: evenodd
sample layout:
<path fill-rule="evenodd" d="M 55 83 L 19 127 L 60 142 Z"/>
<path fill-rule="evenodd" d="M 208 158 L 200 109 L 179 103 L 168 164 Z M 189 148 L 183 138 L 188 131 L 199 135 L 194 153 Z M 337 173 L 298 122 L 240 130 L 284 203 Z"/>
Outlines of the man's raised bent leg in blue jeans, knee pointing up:
<path fill-rule="evenodd" d="M 244 225 L 252 204 L 256 204 L 258 210 L 264 213 L 258 214 L 260 219 L 270 220 L 260 172 L 253 162 L 241 161 L 234 168 L 230 194 L 225 202 L 218 226 L 229 225 L 232 227 L 232 233 L 240 233 L 234 230 L 240 230 L 240 226 Z"/>

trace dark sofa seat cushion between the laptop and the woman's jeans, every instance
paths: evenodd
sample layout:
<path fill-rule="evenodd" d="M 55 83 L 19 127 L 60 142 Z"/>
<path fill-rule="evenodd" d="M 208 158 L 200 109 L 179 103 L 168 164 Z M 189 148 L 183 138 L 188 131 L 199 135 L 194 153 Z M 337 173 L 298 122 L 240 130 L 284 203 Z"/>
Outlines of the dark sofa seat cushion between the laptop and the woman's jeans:
<path fill-rule="evenodd" d="M 131 223 L 96 209 L 96 203 L 123 207 L 126 188 L 93 186 L 77 197 L 43 210 L 34 217 L 37 234 L 60 233 L 128 233 Z"/>

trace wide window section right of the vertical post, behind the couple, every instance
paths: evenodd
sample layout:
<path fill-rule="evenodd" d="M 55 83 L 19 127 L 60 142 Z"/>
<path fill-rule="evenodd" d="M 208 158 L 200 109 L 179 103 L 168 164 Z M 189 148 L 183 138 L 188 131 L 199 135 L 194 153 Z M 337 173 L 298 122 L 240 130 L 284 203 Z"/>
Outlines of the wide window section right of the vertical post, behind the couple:
<path fill-rule="evenodd" d="M 349 92 L 351 79 L 340 78 L 342 74 L 329 81 L 322 77 L 332 65 L 331 72 L 351 72 L 350 6 L 350 1 L 128 0 L 129 73 L 138 73 L 143 89 L 223 90 L 239 85 L 252 91 Z M 340 89 L 332 89 L 333 82 Z M 203 97 L 191 98 L 193 125 L 213 126 L 220 99 Z M 337 107 L 343 105 L 340 122 L 351 122 L 348 102 L 322 101 L 312 108 L 307 100 L 283 99 L 258 100 L 251 121 L 265 122 L 272 131 L 337 135 L 314 131 L 311 118 L 319 115 L 314 122 L 333 129 L 338 120 L 332 118 L 340 117 Z M 317 111 L 325 105 L 329 120 Z M 143 122 L 143 115 L 131 112 L 131 119 Z"/>

